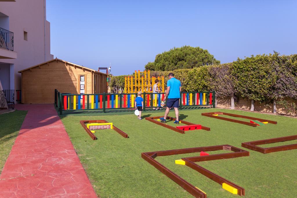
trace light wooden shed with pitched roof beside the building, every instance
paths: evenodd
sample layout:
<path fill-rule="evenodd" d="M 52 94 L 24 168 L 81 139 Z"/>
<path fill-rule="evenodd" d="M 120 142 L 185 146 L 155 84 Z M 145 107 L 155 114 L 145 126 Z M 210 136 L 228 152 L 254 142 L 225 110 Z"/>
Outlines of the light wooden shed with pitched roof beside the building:
<path fill-rule="evenodd" d="M 19 71 L 22 103 L 54 103 L 54 91 L 71 94 L 107 93 L 107 74 L 61 59 L 53 59 Z"/>

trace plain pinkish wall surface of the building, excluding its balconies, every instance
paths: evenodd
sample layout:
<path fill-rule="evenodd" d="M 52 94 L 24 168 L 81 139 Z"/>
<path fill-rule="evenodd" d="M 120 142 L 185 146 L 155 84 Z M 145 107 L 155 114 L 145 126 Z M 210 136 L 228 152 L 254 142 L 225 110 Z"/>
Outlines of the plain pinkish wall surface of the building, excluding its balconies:
<path fill-rule="evenodd" d="M 50 23 L 46 21 L 44 6 L 45 0 L 0 2 L 0 16 L 9 18 L 8 30 L 14 33 L 14 51 L 17 52 L 16 59 L 0 59 L 0 62 L 14 64 L 11 76 L 15 90 L 21 89 L 18 71 L 53 59 L 50 54 Z M 27 41 L 24 40 L 24 31 L 28 32 Z"/>

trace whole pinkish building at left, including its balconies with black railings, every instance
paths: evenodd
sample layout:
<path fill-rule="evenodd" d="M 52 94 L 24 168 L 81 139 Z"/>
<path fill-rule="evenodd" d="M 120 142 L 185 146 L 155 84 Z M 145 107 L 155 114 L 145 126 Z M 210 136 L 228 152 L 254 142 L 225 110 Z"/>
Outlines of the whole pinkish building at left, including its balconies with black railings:
<path fill-rule="evenodd" d="M 51 59 L 45 0 L 0 0 L 0 88 L 20 90 L 18 71 Z"/>

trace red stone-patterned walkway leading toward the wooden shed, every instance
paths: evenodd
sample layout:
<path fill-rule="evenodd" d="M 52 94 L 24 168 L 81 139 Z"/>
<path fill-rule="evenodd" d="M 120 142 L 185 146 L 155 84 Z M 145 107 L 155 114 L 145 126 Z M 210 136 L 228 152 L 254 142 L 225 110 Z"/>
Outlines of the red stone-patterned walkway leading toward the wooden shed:
<path fill-rule="evenodd" d="M 53 104 L 29 110 L 0 175 L 0 197 L 97 197 Z"/>

